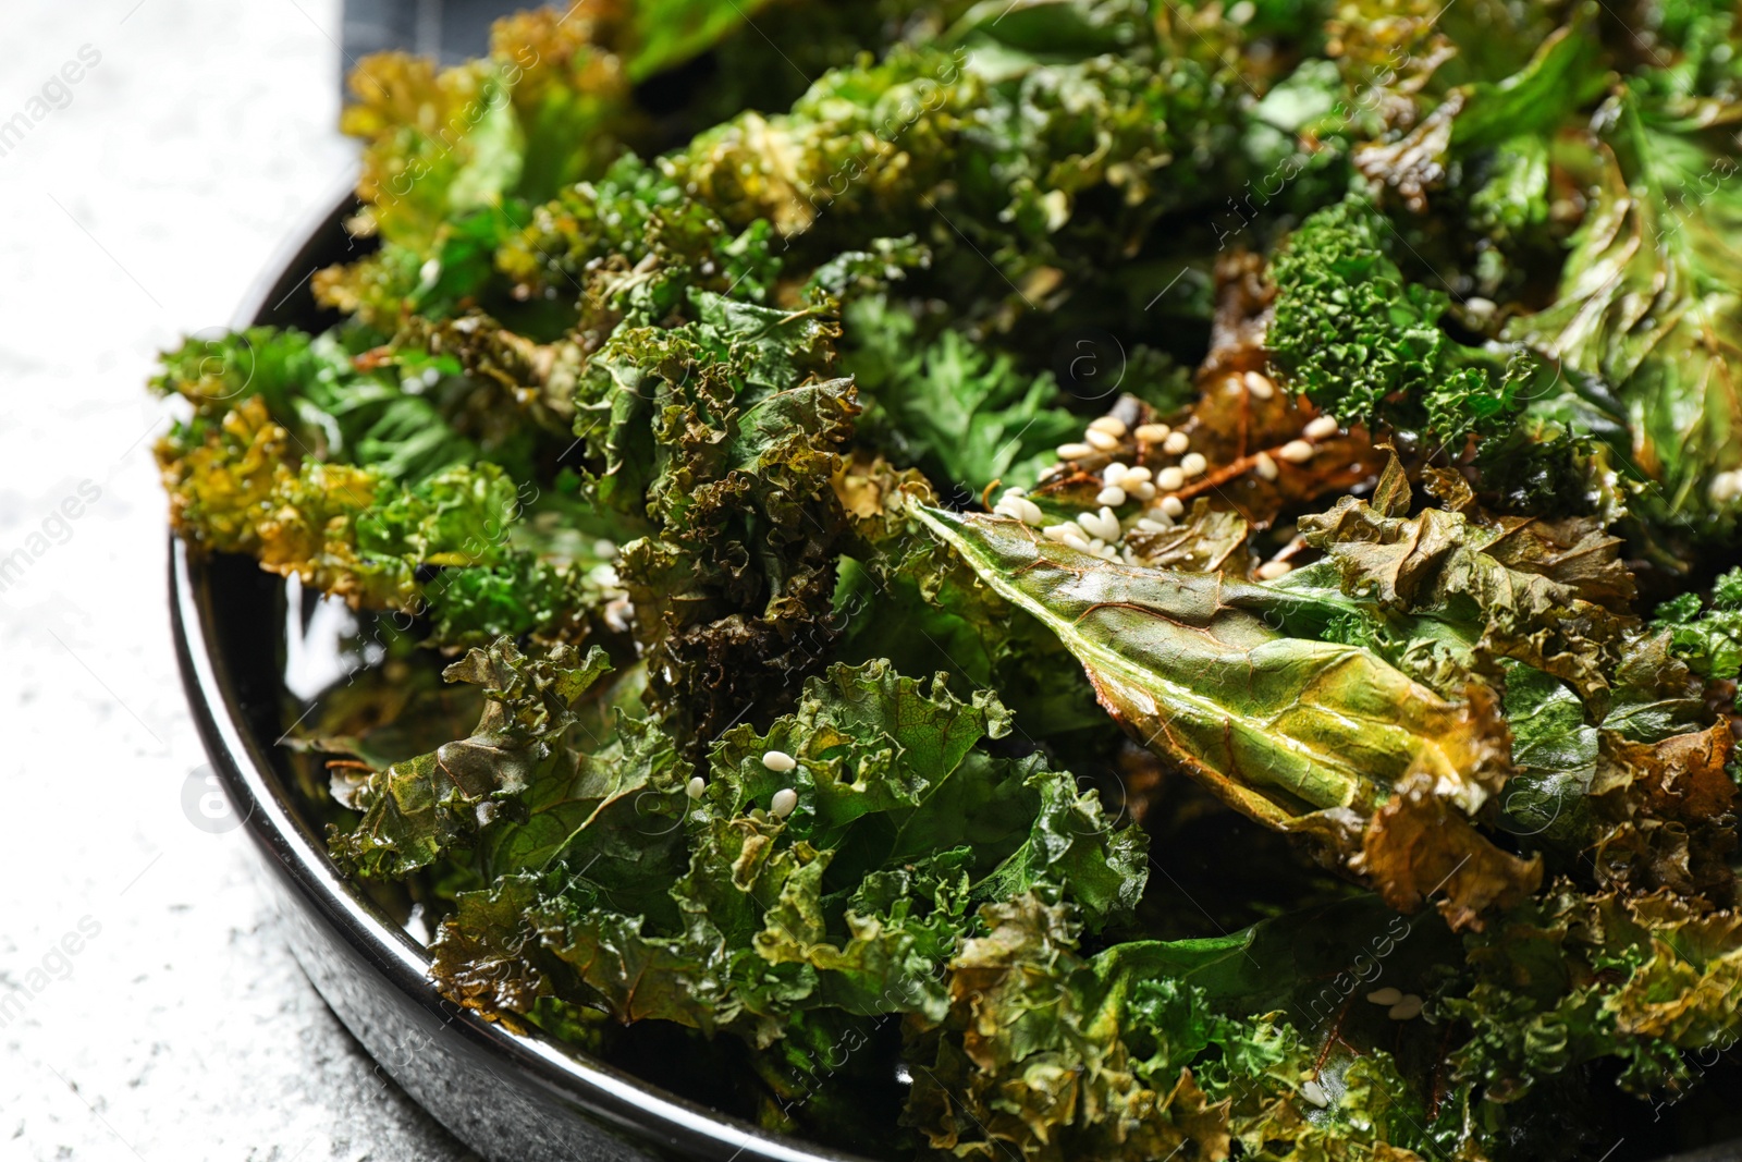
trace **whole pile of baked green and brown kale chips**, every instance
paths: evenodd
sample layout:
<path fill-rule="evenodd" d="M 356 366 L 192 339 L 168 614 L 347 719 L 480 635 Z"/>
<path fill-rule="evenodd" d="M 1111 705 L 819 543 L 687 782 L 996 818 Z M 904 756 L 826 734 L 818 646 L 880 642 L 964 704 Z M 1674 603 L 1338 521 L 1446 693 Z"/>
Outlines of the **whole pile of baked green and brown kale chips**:
<path fill-rule="evenodd" d="M 582 0 L 352 87 L 336 322 L 165 354 L 157 455 L 355 611 L 287 746 L 442 995 L 888 1159 L 1725 1132 L 1733 3 Z"/>

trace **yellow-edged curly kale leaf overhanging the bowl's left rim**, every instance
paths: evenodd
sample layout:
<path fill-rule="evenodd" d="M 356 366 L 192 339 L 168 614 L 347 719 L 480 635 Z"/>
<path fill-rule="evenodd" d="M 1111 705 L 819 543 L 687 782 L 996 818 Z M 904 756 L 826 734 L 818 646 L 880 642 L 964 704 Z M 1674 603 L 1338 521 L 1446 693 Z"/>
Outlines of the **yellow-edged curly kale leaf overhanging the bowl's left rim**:
<path fill-rule="evenodd" d="M 157 449 L 176 528 L 354 605 L 427 613 L 446 645 L 578 636 L 610 578 L 591 542 L 540 537 L 550 502 L 528 477 L 554 416 L 502 368 L 531 354 L 490 341 L 486 357 L 465 324 L 361 357 L 294 329 L 188 340 L 153 380 L 193 408 Z"/>

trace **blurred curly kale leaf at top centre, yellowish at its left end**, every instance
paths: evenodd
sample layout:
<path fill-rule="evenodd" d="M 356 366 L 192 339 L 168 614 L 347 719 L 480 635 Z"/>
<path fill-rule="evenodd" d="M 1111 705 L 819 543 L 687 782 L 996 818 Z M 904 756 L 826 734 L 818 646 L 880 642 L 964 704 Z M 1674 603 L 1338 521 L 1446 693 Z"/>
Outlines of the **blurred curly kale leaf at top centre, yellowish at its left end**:
<path fill-rule="evenodd" d="M 1239 99 L 1192 61 L 930 47 L 831 71 L 791 111 L 747 113 L 662 166 L 728 225 L 773 221 L 807 261 L 913 232 L 951 300 L 1031 303 L 1207 200 L 1237 138 Z"/>

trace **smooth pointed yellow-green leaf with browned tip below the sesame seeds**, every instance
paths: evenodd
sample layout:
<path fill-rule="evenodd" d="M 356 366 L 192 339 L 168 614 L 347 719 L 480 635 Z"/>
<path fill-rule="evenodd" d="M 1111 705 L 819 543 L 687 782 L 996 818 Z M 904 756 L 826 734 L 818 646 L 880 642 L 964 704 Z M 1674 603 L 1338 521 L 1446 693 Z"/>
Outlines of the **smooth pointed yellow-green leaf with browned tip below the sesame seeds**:
<path fill-rule="evenodd" d="M 1510 774 L 1493 692 L 1467 674 L 1446 697 L 1331 638 L 1362 598 L 1110 563 L 1005 517 L 918 517 L 1057 634 L 1134 739 L 1230 807 L 1320 836 L 1397 906 L 1444 888 L 1458 923 L 1535 887 L 1538 864 L 1469 824 Z M 1420 810 L 1434 812 L 1427 841 L 1406 831 Z"/>

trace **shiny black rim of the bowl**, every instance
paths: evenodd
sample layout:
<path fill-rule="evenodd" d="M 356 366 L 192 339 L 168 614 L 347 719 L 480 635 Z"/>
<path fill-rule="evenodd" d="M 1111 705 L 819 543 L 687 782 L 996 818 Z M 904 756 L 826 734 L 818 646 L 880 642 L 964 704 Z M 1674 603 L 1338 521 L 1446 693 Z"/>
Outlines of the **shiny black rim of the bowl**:
<path fill-rule="evenodd" d="M 232 328 L 242 331 L 260 326 L 284 301 L 301 293 L 308 275 L 303 275 L 287 294 L 282 294 L 282 287 L 321 249 L 324 235 L 341 228 L 343 218 L 355 206 L 355 195 L 347 188 L 343 199 L 324 207 L 319 216 L 310 216 L 310 221 L 279 247 L 242 298 Z M 282 294 L 277 300 L 279 307 L 268 310 L 275 294 Z M 256 737 L 247 725 L 218 639 L 209 578 L 200 554 L 174 533 L 169 533 L 169 605 L 176 655 L 213 770 L 254 847 L 277 869 L 298 906 L 350 944 L 381 981 L 444 1028 L 453 1030 L 470 1049 L 510 1068 L 516 1082 L 537 1085 L 550 1098 L 573 1103 L 641 1145 L 746 1162 L 873 1162 L 800 1138 L 780 1138 L 645 1082 L 538 1030 L 516 1033 L 441 996 L 430 984 L 430 958 L 423 946 L 350 888 L 348 880 L 327 855 L 326 843 L 300 815 L 268 756 L 270 744 Z M 427 1106 L 425 1110 L 442 1120 L 436 1110 Z"/>

